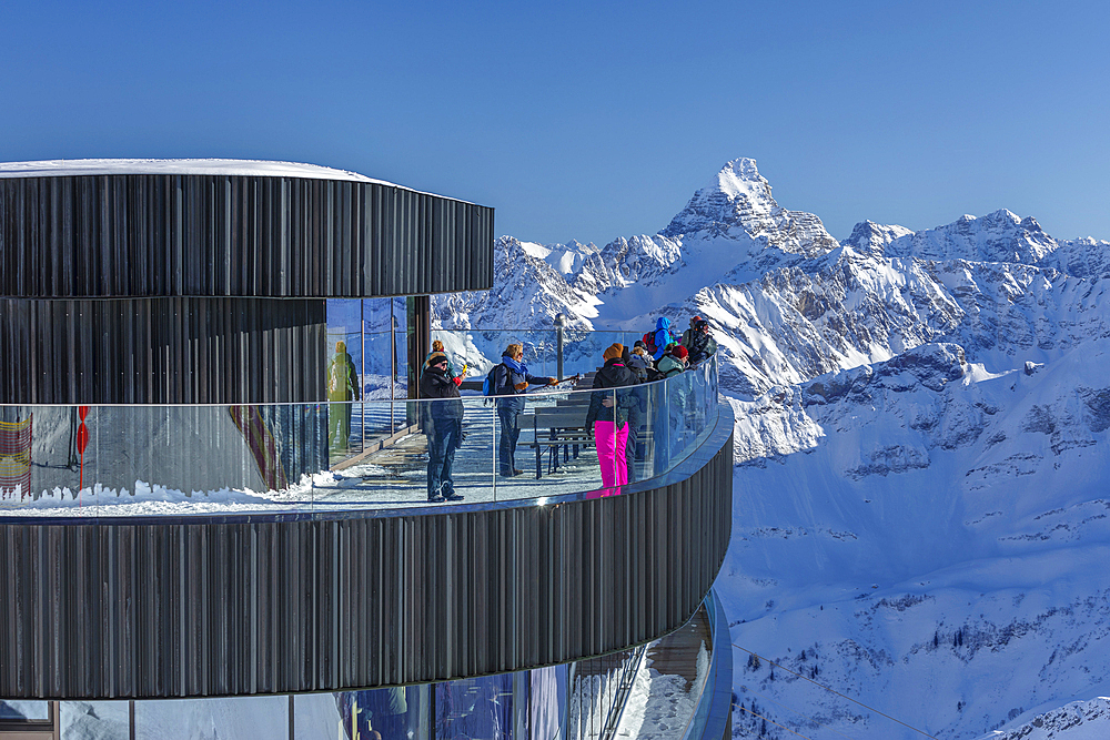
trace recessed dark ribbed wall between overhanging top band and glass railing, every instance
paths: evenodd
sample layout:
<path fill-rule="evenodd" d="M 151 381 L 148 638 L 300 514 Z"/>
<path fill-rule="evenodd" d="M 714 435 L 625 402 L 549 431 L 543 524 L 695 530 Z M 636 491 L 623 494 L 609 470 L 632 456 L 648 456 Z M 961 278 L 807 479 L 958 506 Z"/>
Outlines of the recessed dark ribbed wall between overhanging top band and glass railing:
<path fill-rule="evenodd" d="M 6 404 L 326 398 L 323 301 L 0 298 Z"/>

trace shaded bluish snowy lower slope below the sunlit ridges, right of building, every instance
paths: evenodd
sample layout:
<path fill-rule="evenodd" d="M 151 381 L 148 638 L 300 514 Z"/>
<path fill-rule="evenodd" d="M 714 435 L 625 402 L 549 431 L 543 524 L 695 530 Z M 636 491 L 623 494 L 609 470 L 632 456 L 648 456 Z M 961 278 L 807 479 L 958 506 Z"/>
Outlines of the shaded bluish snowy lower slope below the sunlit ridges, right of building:
<path fill-rule="evenodd" d="M 717 589 L 738 646 L 929 734 L 977 738 L 1110 688 L 1110 438 L 1093 391 L 1110 387 L 1110 341 L 1001 373 L 957 349 L 733 402 L 746 464 Z M 738 697 L 787 728 L 919 737 L 746 659 Z"/>

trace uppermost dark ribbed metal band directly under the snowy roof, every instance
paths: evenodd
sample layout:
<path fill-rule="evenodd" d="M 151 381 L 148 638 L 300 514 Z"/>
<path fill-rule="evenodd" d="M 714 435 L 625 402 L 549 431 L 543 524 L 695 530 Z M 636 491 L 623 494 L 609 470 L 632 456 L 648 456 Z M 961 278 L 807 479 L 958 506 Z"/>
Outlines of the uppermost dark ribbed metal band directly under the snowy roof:
<path fill-rule="evenodd" d="M 266 175 L 0 179 L 0 295 L 375 297 L 493 287 L 493 209 Z"/>

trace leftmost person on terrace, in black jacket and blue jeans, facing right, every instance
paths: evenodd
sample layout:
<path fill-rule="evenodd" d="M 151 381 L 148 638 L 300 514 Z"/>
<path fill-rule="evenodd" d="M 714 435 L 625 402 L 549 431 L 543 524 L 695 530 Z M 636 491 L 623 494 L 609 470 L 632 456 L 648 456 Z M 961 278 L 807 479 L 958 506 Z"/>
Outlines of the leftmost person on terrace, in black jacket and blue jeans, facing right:
<path fill-rule="evenodd" d="M 432 353 L 427 368 L 420 377 L 421 430 L 427 435 L 427 500 L 461 501 L 451 478 L 451 465 L 463 438 L 463 402 L 458 388 L 447 377 L 447 355 Z"/>

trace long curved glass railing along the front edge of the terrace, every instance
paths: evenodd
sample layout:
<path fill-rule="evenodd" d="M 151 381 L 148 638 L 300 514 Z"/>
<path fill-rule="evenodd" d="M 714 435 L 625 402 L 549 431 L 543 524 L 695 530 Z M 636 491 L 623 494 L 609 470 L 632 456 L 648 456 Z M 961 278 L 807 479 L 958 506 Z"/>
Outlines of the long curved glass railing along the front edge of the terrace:
<path fill-rule="evenodd" d="M 0 517 L 324 513 L 427 506 L 430 497 L 444 506 L 613 495 L 673 469 L 716 422 L 715 357 L 655 383 L 533 388 L 497 398 L 0 406 Z"/>

